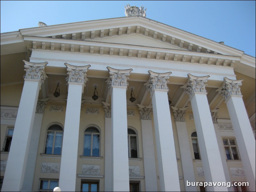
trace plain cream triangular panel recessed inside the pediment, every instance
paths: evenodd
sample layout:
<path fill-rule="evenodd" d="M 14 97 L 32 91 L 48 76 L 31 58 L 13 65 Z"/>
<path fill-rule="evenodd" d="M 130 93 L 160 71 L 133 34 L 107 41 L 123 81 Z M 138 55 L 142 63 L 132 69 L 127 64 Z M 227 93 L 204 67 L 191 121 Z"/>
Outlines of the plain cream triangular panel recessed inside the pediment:
<path fill-rule="evenodd" d="M 103 37 L 103 38 L 95 38 L 89 41 L 94 42 L 103 42 L 103 43 L 116 43 L 116 44 L 124 44 L 124 45 L 136 45 L 143 47 L 152 47 L 152 48 L 165 48 L 165 49 L 176 49 L 176 50 L 186 50 L 184 48 L 180 48 L 179 46 L 172 45 L 167 42 L 163 42 L 145 35 L 141 34 L 130 34 L 130 35 L 118 35 L 112 37 Z"/>

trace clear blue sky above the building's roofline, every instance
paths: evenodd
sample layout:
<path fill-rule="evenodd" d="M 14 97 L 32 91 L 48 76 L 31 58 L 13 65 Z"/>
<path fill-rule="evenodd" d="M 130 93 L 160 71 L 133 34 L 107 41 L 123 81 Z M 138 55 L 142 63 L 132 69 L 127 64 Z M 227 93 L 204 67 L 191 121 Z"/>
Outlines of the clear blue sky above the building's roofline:
<path fill-rule="evenodd" d="M 124 5 L 147 18 L 224 41 L 255 57 L 255 1 L 1 1 L 1 33 L 38 26 L 125 17 Z"/>

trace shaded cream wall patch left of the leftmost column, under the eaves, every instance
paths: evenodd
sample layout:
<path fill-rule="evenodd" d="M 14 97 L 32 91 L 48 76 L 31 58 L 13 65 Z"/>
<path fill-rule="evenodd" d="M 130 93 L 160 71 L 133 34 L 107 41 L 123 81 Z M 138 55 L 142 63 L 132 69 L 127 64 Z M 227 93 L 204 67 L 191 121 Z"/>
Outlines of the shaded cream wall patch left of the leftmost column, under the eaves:
<path fill-rule="evenodd" d="M 17 85 L 1 86 L 1 106 L 19 107 L 23 83 Z"/>

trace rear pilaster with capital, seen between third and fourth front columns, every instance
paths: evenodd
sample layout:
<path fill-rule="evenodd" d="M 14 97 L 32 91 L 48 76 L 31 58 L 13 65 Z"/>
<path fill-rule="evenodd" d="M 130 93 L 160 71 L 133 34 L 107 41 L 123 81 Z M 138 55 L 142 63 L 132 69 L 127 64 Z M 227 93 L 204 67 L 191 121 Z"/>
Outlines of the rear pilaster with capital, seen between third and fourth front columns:
<path fill-rule="evenodd" d="M 155 168 L 155 152 L 154 139 L 152 129 L 152 106 L 139 107 L 141 129 L 142 129 L 142 144 L 143 144 L 143 161 L 145 172 L 146 191 L 158 191 L 157 189 L 157 175 Z"/>

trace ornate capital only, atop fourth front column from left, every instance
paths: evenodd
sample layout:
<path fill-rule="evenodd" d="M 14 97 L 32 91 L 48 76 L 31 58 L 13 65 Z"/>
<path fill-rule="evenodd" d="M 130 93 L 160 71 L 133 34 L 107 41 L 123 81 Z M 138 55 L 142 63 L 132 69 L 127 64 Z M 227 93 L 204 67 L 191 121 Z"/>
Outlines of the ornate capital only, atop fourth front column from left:
<path fill-rule="evenodd" d="M 145 83 L 144 85 L 147 85 L 147 89 L 151 91 L 151 93 L 154 91 L 154 89 L 169 89 L 167 83 L 169 82 L 168 79 L 171 72 L 155 73 L 149 70 L 148 73 L 150 77 L 147 83 Z"/>

